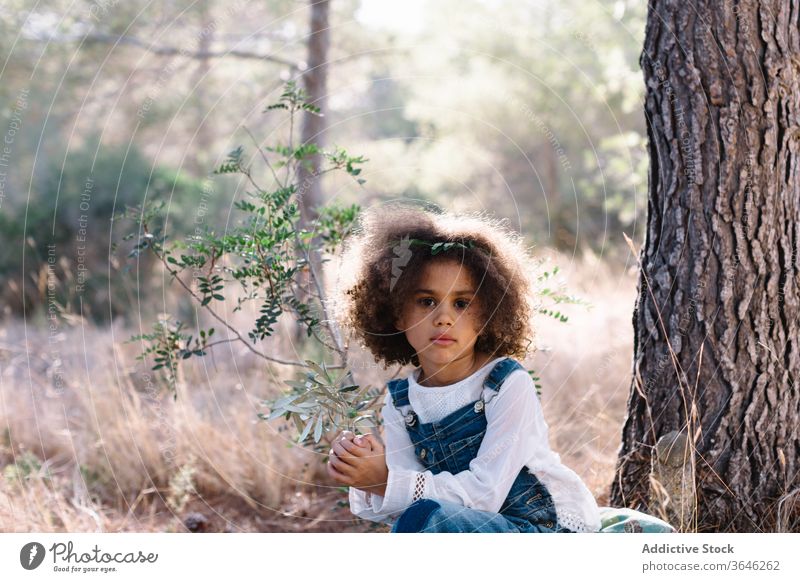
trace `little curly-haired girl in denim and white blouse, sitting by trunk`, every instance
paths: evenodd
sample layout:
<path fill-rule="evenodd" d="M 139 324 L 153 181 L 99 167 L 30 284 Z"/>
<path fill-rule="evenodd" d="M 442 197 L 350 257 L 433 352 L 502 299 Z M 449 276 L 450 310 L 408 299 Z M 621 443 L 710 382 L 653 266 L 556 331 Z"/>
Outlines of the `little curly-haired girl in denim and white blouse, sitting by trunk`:
<path fill-rule="evenodd" d="M 530 258 L 502 223 L 395 206 L 345 251 L 338 315 L 386 365 L 385 448 L 344 433 L 328 472 L 392 532 L 592 532 L 597 504 L 548 443 L 530 375 Z M 341 287 L 340 287 L 341 288 Z"/>

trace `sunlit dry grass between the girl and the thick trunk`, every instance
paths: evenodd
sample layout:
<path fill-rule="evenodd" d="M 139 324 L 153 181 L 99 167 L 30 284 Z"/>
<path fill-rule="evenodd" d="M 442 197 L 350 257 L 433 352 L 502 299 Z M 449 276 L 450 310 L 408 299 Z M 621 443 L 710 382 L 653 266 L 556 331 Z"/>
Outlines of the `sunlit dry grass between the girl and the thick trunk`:
<path fill-rule="evenodd" d="M 607 505 L 630 389 L 636 274 L 591 256 L 579 263 L 557 255 L 552 260 L 567 289 L 591 306 L 563 309 L 567 323 L 541 317 L 543 349 L 529 367 L 541 377 L 553 450 Z"/>

